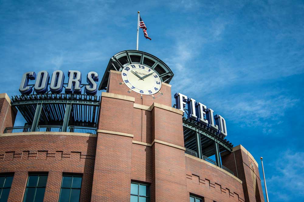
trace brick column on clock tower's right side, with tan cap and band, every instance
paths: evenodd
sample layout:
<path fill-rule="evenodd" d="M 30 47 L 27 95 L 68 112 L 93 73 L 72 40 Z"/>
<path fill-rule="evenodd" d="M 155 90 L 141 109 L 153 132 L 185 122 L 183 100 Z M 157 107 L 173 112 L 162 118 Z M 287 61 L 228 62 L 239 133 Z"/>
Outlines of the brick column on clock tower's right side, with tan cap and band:
<path fill-rule="evenodd" d="M 152 106 L 151 202 L 189 201 L 182 111 L 157 103 Z"/>

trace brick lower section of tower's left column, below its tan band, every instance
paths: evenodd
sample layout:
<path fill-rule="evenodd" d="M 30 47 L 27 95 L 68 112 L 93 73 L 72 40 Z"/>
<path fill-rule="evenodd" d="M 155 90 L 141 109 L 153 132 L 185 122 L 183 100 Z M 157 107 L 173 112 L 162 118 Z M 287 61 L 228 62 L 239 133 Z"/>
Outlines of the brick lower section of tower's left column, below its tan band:
<path fill-rule="evenodd" d="M 98 133 L 92 202 L 130 202 L 132 138 Z"/>

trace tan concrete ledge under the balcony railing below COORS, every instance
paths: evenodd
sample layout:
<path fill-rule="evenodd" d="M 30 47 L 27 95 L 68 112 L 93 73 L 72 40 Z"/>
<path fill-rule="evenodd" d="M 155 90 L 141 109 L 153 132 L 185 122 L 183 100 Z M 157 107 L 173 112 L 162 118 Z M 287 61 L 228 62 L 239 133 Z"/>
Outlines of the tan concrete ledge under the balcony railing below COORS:
<path fill-rule="evenodd" d="M 2 134 L 0 134 L 0 137 L 18 136 L 18 135 L 71 135 L 71 136 L 97 137 L 96 134 L 91 134 L 91 133 L 71 133 L 71 132 L 22 132 L 22 133 L 2 133 Z"/>

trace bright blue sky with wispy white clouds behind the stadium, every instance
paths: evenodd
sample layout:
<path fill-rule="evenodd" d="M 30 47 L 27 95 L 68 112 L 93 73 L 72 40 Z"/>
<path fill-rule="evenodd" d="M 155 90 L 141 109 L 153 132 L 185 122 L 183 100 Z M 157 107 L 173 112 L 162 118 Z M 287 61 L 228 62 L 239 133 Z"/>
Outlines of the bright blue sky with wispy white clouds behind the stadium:
<path fill-rule="evenodd" d="M 139 50 L 169 65 L 172 94 L 221 114 L 227 139 L 264 157 L 270 201 L 304 201 L 303 1 L 0 0 L 1 93 L 19 94 L 26 71 L 102 76 L 136 48 L 138 10 L 152 38 L 140 30 Z"/>

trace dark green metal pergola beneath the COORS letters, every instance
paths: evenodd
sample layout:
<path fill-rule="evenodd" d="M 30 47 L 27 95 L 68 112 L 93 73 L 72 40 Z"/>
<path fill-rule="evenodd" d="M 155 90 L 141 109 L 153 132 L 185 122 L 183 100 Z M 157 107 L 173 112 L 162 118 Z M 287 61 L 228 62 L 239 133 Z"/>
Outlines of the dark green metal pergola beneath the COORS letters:
<path fill-rule="evenodd" d="M 37 131 L 39 125 L 67 127 L 96 127 L 100 96 L 85 94 L 29 94 L 12 97 L 12 106 L 18 108 L 26 125 Z"/>

